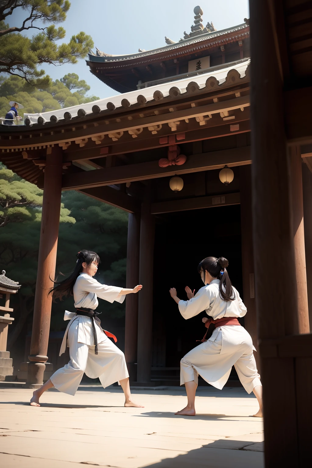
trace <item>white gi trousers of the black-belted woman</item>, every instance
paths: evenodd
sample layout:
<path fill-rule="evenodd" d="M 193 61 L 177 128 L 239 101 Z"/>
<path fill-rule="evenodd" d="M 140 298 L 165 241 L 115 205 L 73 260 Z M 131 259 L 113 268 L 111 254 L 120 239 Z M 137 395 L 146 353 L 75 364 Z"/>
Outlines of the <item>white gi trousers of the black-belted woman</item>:
<path fill-rule="evenodd" d="M 98 377 L 104 388 L 115 382 L 119 384 L 119 380 L 129 377 L 123 352 L 104 333 L 101 342 L 98 343 L 98 354 L 94 354 L 94 345 L 78 342 L 78 332 L 77 319 L 68 329 L 70 361 L 50 378 L 55 388 L 60 392 L 75 395 L 83 373 L 91 379 Z"/>

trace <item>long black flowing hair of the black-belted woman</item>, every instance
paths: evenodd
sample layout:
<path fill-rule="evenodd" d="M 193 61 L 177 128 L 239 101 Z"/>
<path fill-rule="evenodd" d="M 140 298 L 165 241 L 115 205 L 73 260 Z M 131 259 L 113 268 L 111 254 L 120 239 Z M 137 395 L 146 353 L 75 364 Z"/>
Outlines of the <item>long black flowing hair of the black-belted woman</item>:
<path fill-rule="evenodd" d="M 55 302 L 56 299 L 62 300 L 64 296 L 73 296 L 73 285 L 75 284 L 76 279 L 79 277 L 82 271 L 83 262 L 87 263 L 87 266 L 91 265 L 92 262 L 101 262 L 100 257 L 91 250 L 80 250 L 80 252 L 78 252 L 77 254 L 77 257 L 78 260 L 72 274 L 68 278 L 63 279 L 62 281 L 58 281 L 58 279 L 54 281 L 54 287 L 49 292 L 49 294 L 52 294 L 53 302 Z"/>

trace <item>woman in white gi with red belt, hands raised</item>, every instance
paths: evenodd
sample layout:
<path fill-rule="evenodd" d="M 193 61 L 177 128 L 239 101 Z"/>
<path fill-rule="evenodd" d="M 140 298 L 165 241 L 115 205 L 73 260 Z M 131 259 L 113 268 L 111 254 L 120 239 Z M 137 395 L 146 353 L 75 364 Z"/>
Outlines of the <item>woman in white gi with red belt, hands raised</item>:
<path fill-rule="evenodd" d="M 234 365 L 247 393 L 254 392 L 259 402 L 259 411 L 254 416 L 262 417 L 262 386 L 253 354 L 255 348 L 251 336 L 237 320 L 246 314 L 247 309 L 232 286 L 227 266 L 228 261 L 224 257 L 202 260 L 198 272 L 205 286 L 195 296 L 187 286 L 185 291 L 189 300 L 180 300 L 175 288 L 170 289 L 182 317 L 189 319 L 205 310 L 210 317 L 203 318 L 205 327 L 208 329 L 211 322 L 216 326 L 208 340 L 181 359 L 180 384 L 185 384 L 188 404 L 175 414 L 195 416 L 198 374 L 210 385 L 222 389 Z"/>

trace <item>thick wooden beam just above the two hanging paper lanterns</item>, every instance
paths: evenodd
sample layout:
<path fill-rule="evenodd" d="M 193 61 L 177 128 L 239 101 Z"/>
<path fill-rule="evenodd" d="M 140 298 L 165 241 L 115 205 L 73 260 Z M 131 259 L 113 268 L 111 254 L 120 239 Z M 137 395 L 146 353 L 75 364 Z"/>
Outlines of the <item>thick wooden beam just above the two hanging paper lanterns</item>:
<path fill-rule="evenodd" d="M 251 164 L 250 147 L 233 148 L 210 153 L 192 154 L 182 166 L 160 168 L 158 161 L 141 162 L 128 166 L 85 171 L 63 176 L 62 190 L 82 190 L 116 183 L 156 179 L 159 177 L 187 174 L 228 166 Z"/>

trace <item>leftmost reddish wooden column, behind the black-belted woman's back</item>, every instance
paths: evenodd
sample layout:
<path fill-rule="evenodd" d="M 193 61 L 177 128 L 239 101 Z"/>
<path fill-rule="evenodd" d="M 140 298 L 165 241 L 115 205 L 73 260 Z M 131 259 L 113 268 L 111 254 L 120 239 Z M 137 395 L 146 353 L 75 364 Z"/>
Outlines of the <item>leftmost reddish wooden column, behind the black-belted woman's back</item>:
<path fill-rule="evenodd" d="M 48 148 L 49 151 L 50 148 Z M 45 362 L 49 341 L 51 295 L 55 276 L 58 246 L 58 225 L 62 188 L 62 149 L 51 148 L 47 154 L 44 170 L 44 200 L 42 207 L 38 272 L 35 293 L 34 318 L 32 326 L 27 384 L 37 388 L 43 383 Z M 52 279 L 50 279 L 52 278 Z"/>

